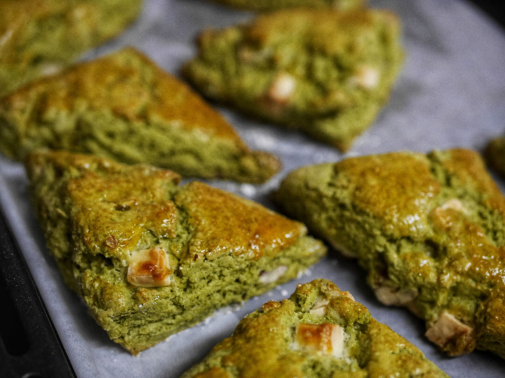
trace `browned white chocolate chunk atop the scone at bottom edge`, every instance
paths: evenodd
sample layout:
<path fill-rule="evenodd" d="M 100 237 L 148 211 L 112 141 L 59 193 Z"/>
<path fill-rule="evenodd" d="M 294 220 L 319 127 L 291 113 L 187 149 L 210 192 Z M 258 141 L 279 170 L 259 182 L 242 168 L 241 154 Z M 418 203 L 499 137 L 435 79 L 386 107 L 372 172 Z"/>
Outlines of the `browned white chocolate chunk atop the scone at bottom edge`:
<path fill-rule="evenodd" d="M 342 358 L 344 330 L 336 324 L 297 324 L 295 348 L 308 352 L 320 352 Z"/>

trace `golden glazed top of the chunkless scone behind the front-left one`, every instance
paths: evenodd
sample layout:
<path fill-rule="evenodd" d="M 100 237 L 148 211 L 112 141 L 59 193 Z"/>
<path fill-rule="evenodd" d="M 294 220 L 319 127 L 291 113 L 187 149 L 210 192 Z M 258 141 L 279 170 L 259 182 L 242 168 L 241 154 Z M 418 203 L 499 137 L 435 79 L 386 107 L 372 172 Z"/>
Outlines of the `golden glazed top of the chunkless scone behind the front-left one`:
<path fill-rule="evenodd" d="M 43 104 L 35 113 L 42 122 L 65 110 L 108 109 L 129 121 L 168 121 L 175 127 L 229 139 L 246 149 L 223 116 L 134 48 L 30 83 L 5 97 L 0 107 L 16 114 L 16 109 L 21 111 L 35 101 Z"/>

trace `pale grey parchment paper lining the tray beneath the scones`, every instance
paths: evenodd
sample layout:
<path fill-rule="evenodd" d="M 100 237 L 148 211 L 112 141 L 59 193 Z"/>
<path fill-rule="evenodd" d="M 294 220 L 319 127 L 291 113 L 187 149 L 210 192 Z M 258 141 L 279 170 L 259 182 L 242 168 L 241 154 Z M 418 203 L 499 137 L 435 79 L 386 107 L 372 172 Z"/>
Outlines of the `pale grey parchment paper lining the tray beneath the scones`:
<path fill-rule="evenodd" d="M 458 0 L 371 1 L 396 11 L 403 22 L 405 68 L 391 100 L 374 126 L 345 155 L 394 150 L 429 151 L 454 146 L 481 149 L 505 128 L 505 34 L 473 6 Z M 205 1 L 146 0 L 139 21 L 120 38 L 84 58 L 124 45 L 143 50 L 163 68 L 178 73 L 195 52 L 199 30 L 249 19 Z M 268 194 L 290 170 L 344 157 L 302 134 L 276 129 L 220 108 L 251 148 L 276 153 L 283 170 L 257 186 L 212 181 L 211 184 L 275 209 Z M 498 179 L 498 178 L 497 178 Z M 501 189 L 505 182 L 499 181 Z M 424 338 L 424 324 L 404 309 L 381 305 L 364 284 L 364 272 L 334 251 L 297 280 L 253 298 L 242 306 L 219 310 L 204 323 L 133 357 L 111 342 L 87 315 L 81 300 L 63 283 L 48 255 L 28 202 L 21 164 L 0 157 L 0 204 L 21 246 L 33 278 L 79 377 L 177 377 L 229 336 L 245 314 L 270 299 L 280 300 L 296 283 L 314 278 L 333 280 L 364 303 L 372 315 L 417 345 L 451 376 L 505 376 L 505 361 L 483 353 L 448 358 Z"/>

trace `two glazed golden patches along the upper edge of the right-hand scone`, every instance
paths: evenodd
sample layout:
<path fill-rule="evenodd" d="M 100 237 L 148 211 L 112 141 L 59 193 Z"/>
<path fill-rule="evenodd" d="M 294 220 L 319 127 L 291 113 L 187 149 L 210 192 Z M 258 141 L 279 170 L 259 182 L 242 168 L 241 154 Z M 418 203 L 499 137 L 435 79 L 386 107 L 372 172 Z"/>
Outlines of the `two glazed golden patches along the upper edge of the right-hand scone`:
<path fill-rule="evenodd" d="M 428 213 L 432 199 L 443 192 L 434 163 L 469 190 L 479 192 L 483 203 L 505 218 L 503 196 L 480 158 L 469 150 L 451 150 L 433 158 L 412 153 L 350 158 L 336 164 L 335 172 L 347 180 L 351 201 L 382 219 L 389 233 L 426 237 L 431 234 Z M 389 184 L 384 185 L 386 182 Z"/>

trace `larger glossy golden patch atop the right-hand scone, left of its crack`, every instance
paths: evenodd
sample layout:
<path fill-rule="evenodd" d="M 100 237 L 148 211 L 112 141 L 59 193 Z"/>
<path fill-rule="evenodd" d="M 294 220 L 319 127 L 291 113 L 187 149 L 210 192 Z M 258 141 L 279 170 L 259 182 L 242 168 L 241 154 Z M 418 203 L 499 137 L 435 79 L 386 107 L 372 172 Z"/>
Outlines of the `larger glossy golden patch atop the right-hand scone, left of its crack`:
<path fill-rule="evenodd" d="M 440 192 L 429 168 L 422 155 L 388 154 L 345 159 L 335 171 L 352 203 L 381 219 L 388 233 L 407 236 L 428 230 L 429 200 Z"/>

